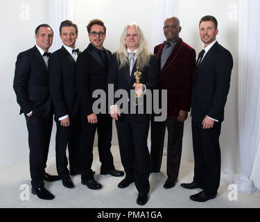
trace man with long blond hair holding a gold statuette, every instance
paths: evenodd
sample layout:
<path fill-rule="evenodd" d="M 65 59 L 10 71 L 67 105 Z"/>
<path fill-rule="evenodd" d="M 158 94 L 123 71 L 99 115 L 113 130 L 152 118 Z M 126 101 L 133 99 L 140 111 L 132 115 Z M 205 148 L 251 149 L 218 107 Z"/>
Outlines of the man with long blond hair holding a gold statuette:
<path fill-rule="evenodd" d="M 141 71 L 140 83 L 135 83 L 135 72 Z M 140 113 L 138 106 L 132 104 L 135 93 L 142 94 L 145 90 L 157 87 L 159 67 L 155 55 L 148 51 L 148 44 L 143 32 L 137 24 L 128 24 L 123 29 L 120 38 L 119 51 L 113 54 L 110 62 L 107 83 L 112 84 L 114 91 L 123 89 L 128 99 L 114 98 L 110 106 L 110 115 L 116 120 L 121 161 L 125 170 L 125 178 L 119 182 L 119 188 L 128 187 L 132 182 L 139 192 L 137 204 L 145 205 L 148 201 L 149 184 L 149 151 L 147 137 L 150 114 L 146 112 L 146 96 L 144 96 L 144 112 Z M 132 95 L 132 96 L 131 96 Z M 117 102 L 125 100 L 127 107 L 121 113 L 122 107 Z M 134 105 L 135 114 L 131 113 Z"/>

